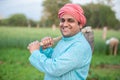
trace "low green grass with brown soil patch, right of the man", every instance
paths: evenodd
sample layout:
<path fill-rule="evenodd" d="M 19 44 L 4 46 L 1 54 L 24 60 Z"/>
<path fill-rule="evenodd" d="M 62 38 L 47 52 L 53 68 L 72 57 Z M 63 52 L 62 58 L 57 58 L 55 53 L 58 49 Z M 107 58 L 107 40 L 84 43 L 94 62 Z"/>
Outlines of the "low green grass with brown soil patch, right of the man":
<path fill-rule="evenodd" d="M 89 74 L 90 80 L 120 80 L 120 56 L 93 55 Z"/>

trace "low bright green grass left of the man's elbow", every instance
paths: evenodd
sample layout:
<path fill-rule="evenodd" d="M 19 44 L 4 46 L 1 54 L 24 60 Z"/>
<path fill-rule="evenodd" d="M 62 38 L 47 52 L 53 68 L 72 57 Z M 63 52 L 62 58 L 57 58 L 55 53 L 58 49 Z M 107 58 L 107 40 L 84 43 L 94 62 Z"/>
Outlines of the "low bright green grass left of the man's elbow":
<path fill-rule="evenodd" d="M 0 49 L 0 80 L 43 80 L 43 73 L 28 61 L 29 52 L 24 49 Z"/>

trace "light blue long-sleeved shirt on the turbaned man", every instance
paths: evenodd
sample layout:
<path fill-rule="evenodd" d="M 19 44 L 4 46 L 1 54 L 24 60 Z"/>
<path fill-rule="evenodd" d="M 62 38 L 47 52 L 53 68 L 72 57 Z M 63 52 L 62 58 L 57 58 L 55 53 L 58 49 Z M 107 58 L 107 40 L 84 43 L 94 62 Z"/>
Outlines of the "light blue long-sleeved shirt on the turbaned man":
<path fill-rule="evenodd" d="M 35 50 L 30 63 L 45 73 L 44 80 L 85 80 L 92 50 L 84 35 L 62 38 L 54 49 Z"/>

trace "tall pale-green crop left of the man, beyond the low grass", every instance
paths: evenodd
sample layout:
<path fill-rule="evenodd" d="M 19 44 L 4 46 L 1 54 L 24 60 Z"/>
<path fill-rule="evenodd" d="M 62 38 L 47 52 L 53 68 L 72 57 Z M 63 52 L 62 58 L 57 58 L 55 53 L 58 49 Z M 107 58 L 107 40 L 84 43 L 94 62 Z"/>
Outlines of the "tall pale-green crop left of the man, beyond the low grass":
<path fill-rule="evenodd" d="M 26 48 L 28 43 L 41 40 L 45 36 L 57 37 L 59 30 L 52 31 L 50 28 L 23 28 L 23 27 L 0 27 L 0 48 L 16 47 Z"/>

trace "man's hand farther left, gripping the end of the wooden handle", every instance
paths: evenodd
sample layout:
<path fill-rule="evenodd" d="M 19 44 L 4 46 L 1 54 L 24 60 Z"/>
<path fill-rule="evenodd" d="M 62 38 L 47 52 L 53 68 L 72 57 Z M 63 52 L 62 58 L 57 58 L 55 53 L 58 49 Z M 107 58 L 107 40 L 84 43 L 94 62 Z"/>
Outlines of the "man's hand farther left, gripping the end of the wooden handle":
<path fill-rule="evenodd" d="M 30 51 L 30 53 L 32 53 L 33 51 L 40 49 L 40 43 L 39 41 L 33 41 L 28 45 L 27 48 Z"/>

